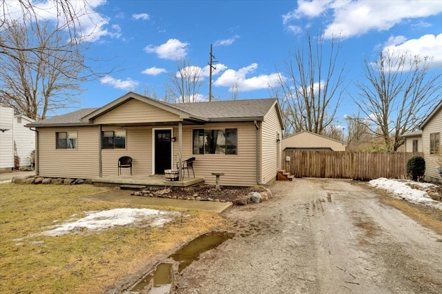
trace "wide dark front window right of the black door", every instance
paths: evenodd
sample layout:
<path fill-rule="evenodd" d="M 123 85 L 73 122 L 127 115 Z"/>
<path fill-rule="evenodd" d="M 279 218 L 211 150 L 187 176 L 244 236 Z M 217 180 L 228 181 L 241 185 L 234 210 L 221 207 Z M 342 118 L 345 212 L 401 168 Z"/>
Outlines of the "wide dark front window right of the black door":
<path fill-rule="evenodd" d="M 193 130 L 193 154 L 238 154 L 238 129 Z"/>

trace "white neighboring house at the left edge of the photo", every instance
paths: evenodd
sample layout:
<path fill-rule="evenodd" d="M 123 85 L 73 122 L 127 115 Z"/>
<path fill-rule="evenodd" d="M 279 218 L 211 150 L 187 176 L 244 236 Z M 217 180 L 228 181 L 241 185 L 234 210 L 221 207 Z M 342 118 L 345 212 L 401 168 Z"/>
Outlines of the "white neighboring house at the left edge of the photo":
<path fill-rule="evenodd" d="M 14 109 L 0 106 L 0 170 L 14 168 L 14 142 L 20 166 L 30 166 L 30 156 L 35 149 L 35 132 L 25 127 L 34 122 L 24 115 L 15 115 Z"/>

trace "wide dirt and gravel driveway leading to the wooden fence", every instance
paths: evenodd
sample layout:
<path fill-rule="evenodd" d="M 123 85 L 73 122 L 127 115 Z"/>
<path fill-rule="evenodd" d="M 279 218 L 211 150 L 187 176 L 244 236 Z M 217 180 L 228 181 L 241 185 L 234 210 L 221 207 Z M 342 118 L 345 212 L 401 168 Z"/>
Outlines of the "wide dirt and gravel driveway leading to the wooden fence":
<path fill-rule="evenodd" d="M 442 293 L 442 236 L 363 184 L 277 182 L 227 212 L 236 237 L 176 277 L 175 293 Z"/>

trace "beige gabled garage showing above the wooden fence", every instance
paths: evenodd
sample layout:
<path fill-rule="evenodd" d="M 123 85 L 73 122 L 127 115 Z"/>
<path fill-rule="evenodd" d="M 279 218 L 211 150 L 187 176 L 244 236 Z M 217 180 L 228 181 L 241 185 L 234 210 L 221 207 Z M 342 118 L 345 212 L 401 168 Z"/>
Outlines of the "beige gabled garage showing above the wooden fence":
<path fill-rule="evenodd" d="M 345 151 L 343 141 L 331 139 L 307 130 L 282 138 L 282 150 Z"/>

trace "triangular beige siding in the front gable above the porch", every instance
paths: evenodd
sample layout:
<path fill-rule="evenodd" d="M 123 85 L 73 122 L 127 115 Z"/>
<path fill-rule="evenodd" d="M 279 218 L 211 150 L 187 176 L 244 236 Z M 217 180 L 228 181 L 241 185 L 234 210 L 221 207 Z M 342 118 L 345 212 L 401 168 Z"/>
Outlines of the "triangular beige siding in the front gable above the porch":
<path fill-rule="evenodd" d="M 158 121 L 179 121 L 180 117 L 169 111 L 133 99 L 94 120 L 94 124 L 122 124 Z"/>

